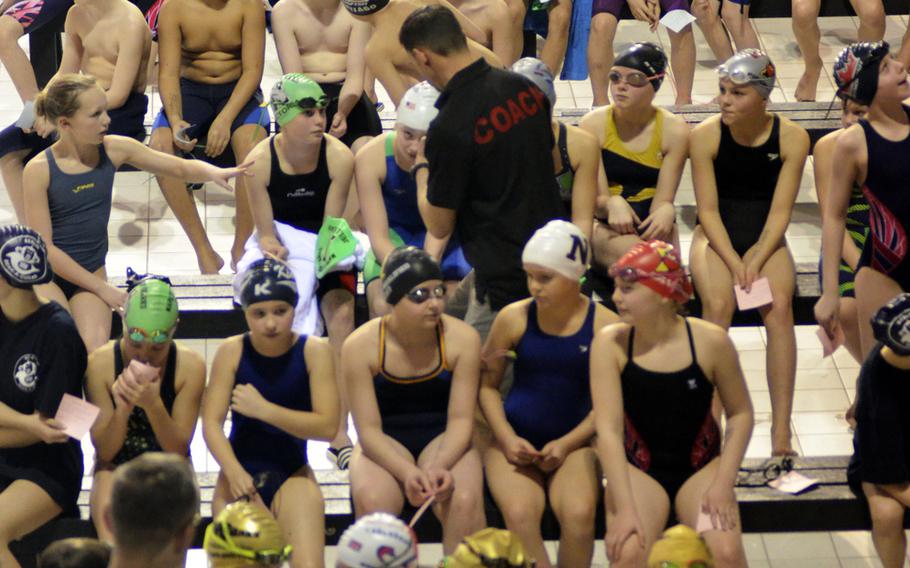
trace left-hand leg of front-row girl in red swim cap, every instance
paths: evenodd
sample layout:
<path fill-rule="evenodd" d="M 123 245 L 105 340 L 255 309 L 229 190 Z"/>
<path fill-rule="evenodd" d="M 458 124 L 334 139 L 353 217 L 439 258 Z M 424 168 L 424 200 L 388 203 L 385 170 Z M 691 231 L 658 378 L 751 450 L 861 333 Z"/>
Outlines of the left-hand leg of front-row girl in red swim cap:
<path fill-rule="evenodd" d="M 629 482 L 632 486 L 632 499 L 642 529 L 645 531 L 644 543 L 639 542 L 635 536 L 626 540 L 616 562 L 610 563 L 610 568 L 641 568 L 645 566 L 648 552 L 667 524 L 670 516 L 670 498 L 667 492 L 654 478 L 633 465 L 629 465 Z M 607 527 L 610 520 L 616 517 L 616 506 L 610 497 L 610 486 L 604 491 L 607 504 Z"/>

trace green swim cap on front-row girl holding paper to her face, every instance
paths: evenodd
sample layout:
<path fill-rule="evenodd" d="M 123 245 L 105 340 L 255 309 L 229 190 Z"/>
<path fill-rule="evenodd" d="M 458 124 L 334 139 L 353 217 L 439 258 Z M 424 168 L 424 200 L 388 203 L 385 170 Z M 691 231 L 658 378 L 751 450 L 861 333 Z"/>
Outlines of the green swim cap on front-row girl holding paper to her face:
<path fill-rule="evenodd" d="M 150 278 L 130 292 L 124 323 L 133 341 L 164 343 L 171 338 L 179 315 L 177 298 L 170 285 Z"/>

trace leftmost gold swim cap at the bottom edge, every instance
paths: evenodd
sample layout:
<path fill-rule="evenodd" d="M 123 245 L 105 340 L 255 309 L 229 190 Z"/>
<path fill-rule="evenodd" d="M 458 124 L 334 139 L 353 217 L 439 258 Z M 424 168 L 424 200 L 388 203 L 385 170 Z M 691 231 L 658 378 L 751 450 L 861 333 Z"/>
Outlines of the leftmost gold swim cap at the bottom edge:
<path fill-rule="evenodd" d="M 280 566 L 291 554 L 278 521 L 265 509 L 246 501 L 225 507 L 205 530 L 203 548 L 212 566 L 221 568 L 219 559 L 244 558 L 261 566 Z"/>

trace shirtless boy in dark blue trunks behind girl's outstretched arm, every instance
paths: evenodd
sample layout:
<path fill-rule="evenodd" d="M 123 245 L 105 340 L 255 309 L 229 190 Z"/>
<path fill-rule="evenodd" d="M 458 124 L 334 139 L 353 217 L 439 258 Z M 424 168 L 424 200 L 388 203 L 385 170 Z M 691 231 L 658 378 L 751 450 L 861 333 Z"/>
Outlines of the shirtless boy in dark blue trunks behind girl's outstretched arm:
<path fill-rule="evenodd" d="M 266 137 L 268 110 L 261 106 L 265 11 L 261 0 L 169 0 L 158 16 L 158 87 L 163 110 L 152 127 L 152 148 L 173 154 L 197 146 L 220 156 L 230 143 L 237 163 Z M 212 248 L 192 196 L 182 180 L 158 178 L 186 231 L 203 274 L 224 264 Z M 232 266 L 253 232 L 246 186 L 236 187 Z"/>

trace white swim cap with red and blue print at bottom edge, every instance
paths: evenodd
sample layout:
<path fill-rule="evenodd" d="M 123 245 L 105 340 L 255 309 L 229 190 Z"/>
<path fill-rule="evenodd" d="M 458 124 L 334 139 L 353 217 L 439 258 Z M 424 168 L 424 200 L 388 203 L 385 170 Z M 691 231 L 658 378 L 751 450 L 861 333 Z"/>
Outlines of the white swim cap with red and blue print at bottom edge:
<path fill-rule="evenodd" d="M 417 538 L 398 517 L 373 513 L 348 527 L 338 541 L 337 566 L 405 568 L 417 566 Z"/>

